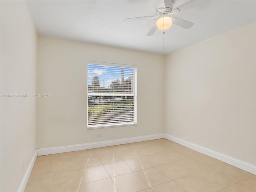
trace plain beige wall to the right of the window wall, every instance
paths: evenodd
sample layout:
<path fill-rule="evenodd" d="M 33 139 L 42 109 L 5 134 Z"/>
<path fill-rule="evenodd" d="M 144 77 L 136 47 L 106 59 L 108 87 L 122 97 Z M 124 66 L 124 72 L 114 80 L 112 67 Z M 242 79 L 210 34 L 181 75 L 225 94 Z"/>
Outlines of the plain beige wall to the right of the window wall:
<path fill-rule="evenodd" d="M 255 34 L 253 22 L 166 56 L 166 133 L 256 165 Z"/>

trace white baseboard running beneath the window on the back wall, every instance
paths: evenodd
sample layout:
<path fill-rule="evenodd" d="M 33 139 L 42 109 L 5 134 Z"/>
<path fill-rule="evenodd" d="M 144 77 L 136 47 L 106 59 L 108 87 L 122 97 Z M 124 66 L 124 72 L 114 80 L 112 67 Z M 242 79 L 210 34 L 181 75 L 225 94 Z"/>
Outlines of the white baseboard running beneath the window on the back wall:
<path fill-rule="evenodd" d="M 42 148 L 37 150 L 37 155 L 38 156 L 50 155 L 50 154 L 56 154 L 56 153 L 79 151 L 79 150 L 86 150 L 86 149 L 92 149 L 92 148 L 107 147 L 107 146 L 121 145 L 121 144 L 133 143 L 133 142 L 161 139 L 161 138 L 164 138 L 163 133 L 155 134 L 155 135 L 132 137 L 132 138 L 101 141 L 101 142 L 77 144 L 77 145 Z"/>

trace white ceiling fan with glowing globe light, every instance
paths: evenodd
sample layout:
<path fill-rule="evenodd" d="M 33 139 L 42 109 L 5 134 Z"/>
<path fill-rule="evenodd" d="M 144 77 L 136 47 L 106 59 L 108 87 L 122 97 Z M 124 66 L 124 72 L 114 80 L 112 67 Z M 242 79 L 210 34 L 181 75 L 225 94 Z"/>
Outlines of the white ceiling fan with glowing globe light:
<path fill-rule="evenodd" d="M 152 26 L 152 28 L 149 30 L 147 36 L 153 35 L 157 29 L 167 30 L 168 28 L 170 28 L 172 26 L 172 23 L 176 24 L 184 29 L 188 29 L 188 28 L 192 27 L 194 25 L 194 23 L 176 17 L 176 14 L 179 14 L 180 12 L 195 8 L 202 4 L 209 3 L 210 1 L 211 0 L 190 0 L 189 2 L 186 2 L 185 4 L 182 4 L 176 8 L 173 8 L 172 0 L 164 0 L 165 7 L 160 7 L 160 8 L 155 7 L 156 15 L 127 18 L 127 19 L 124 19 L 124 22 L 159 18 L 156 21 L 156 23 Z"/>

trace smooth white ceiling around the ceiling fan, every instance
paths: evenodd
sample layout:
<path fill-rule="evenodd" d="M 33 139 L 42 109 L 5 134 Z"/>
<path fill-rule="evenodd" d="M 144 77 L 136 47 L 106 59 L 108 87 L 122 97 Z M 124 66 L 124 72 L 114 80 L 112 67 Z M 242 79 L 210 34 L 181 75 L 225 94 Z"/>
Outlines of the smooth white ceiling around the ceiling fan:
<path fill-rule="evenodd" d="M 188 0 L 174 0 L 174 8 Z M 156 20 L 123 22 L 154 15 L 163 0 L 31 0 L 28 8 L 38 34 L 94 44 L 163 54 L 163 34 L 146 36 Z M 238 28 L 256 20 L 256 0 L 212 0 L 181 12 L 190 29 L 172 25 L 164 35 L 164 54 Z"/>

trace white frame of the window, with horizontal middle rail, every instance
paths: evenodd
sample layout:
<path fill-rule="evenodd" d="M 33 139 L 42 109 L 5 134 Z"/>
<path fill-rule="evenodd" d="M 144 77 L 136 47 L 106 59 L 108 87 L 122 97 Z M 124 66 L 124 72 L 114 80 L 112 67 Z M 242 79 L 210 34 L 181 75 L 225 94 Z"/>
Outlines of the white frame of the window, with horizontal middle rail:
<path fill-rule="evenodd" d="M 88 125 L 88 97 L 91 96 L 92 94 L 89 93 L 89 82 L 88 82 L 88 66 L 89 65 L 98 65 L 98 66 L 113 66 L 113 67 L 123 67 L 123 68 L 133 68 L 134 69 L 134 85 L 133 85 L 133 90 L 134 93 L 131 94 L 126 94 L 126 93 L 112 93 L 112 96 L 133 96 L 133 107 L 134 107 L 134 118 L 133 122 L 121 122 L 121 123 L 105 123 L 105 124 L 99 124 L 99 125 Z M 87 118 L 86 118 L 86 127 L 87 130 L 92 130 L 92 129 L 100 129 L 100 128 L 110 128 L 110 127 L 122 127 L 122 126 L 136 126 L 137 125 L 137 84 L 138 84 L 138 66 L 135 65 L 127 65 L 127 64 L 116 64 L 116 63 L 106 63 L 106 62 L 94 62 L 94 61 L 88 61 L 87 63 Z M 104 93 L 94 93 L 95 95 L 102 95 Z M 104 94 L 106 95 L 106 93 Z M 107 94 L 111 95 L 111 94 Z"/>

